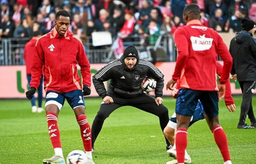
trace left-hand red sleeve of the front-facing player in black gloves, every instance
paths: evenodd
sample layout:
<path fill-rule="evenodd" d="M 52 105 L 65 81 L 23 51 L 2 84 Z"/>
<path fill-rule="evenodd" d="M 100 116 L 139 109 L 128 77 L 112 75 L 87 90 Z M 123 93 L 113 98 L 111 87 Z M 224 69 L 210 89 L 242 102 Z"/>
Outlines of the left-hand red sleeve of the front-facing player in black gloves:
<path fill-rule="evenodd" d="M 38 89 L 40 85 L 44 60 L 44 51 L 41 47 L 40 39 L 38 39 L 37 43 L 35 44 L 35 53 L 33 54 L 33 61 L 31 65 L 30 87 L 35 87 Z"/>

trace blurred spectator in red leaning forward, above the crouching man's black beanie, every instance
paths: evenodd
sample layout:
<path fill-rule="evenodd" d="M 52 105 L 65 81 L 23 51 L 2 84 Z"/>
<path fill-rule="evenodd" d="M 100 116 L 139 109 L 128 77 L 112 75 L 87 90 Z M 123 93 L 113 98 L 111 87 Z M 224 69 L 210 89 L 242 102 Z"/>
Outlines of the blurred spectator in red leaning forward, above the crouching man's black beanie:
<path fill-rule="evenodd" d="M 121 38 L 127 38 L 131 35 L 135 25 L 135 18 L 133 17 L 133 12 L 131 10 L 125 10 L 124 19 L 124 26 L 118 33 L 118 36 L 121 36 Z"/>

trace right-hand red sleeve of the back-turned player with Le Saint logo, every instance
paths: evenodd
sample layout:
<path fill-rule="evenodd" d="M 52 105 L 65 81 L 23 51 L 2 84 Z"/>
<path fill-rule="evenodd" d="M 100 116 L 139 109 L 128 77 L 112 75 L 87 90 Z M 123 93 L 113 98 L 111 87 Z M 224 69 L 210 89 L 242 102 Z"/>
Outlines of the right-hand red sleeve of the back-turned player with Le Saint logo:
<path fill-rule="evenodd" d="M 221 59 L 223 60 L 223 69 L 221 74 L 221 79 L 219 82 L 221 84 L 225 84 L 227 80 L 229 80 L 229 73 L 232 68 L 233 59 L 229 53 L 229 50 L 227 49 L 226 44 L 223 42 L 223 39 L 221 36 L 215 31 L 215 36 L 217 37 L 217 54 L 221 56 Z"/>

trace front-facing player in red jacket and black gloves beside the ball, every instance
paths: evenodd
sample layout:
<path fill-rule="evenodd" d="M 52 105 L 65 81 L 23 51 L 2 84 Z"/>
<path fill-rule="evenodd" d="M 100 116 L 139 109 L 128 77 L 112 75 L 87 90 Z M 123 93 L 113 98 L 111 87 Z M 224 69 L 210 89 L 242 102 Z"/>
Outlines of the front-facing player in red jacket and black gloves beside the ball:
<path fill-rule="evenodd" d="M 44 85 L 46 91 L 45 110 L 48 122 L 49 136 L 55 155 L 44 159 L 45 164 L 65 164 L 60 143 L 60 131 L 57 125 L 58 114 L 67 99 L 74 110 L 80 126 L 81 137 L 86 151 L 87 163 L 93 164 L 91 155 L 91 128 L 84 114 L 83 95 L 91 93 L 90 63 L 84 52 L 82 42 L 73 37 L 68 30 L 70 14 L 65 10 L 56 13 L 56 26 L 43 35 L 35 44 L 33 56 L 32 78 L 30 90 L 26 92 L 31 99 L 38 89 L 42 67 L 44 67 Z M 83 77 L 83 92 L 76 64 L 81 67 Z"/>

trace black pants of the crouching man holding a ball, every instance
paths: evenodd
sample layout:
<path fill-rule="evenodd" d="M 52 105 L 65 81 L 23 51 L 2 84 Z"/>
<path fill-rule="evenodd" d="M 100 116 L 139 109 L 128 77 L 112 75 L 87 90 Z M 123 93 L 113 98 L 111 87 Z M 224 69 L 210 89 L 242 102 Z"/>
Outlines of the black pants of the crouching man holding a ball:
<path fill-rule="evenodd" d="M 93 125 L 91 126 L 92 146 L 94 146 L 94 142 L 101 131 L 104 120 L 109 117 L 114 110 L 121 106 L 133 106 L 158 116 L 162 131 L 169 122 L 168 109 L 163 104 L 157 106 L 157 104 L 155 104 L 155 99 L 146 93 L 130 99 L 120 98 L 116 94 L 108 93 L 108 95 L 113 98 L 114 103 L 101 104 L 99 111 L 94 118 Z M 165 140 L 166 144 L 169 145 L 169 141 L 166 138 Z"/>

